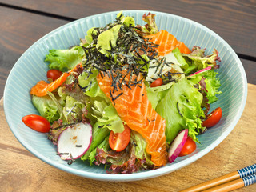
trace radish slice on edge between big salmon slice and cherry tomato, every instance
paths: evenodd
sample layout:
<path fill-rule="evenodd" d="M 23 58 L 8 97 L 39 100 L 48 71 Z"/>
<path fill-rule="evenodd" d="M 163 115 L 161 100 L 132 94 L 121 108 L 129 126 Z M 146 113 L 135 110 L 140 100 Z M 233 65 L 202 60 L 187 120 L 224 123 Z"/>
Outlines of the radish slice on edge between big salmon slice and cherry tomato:
<path fill-rule="evenodd" d="M 174 160 L 178 157 L 178 154 L 182 151 L 182 147 L 184 146 L 187 138 L 188 130 L 182 130 L 174 141 L 170 144 L 170 148 L 168 151 L 169 162 L 174 162 Z"/>

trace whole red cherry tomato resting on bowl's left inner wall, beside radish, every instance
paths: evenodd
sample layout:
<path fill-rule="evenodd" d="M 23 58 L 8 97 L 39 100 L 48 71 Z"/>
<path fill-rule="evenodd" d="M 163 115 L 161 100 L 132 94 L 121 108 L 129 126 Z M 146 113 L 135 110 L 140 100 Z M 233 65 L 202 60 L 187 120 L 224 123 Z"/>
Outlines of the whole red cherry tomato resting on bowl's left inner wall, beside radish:
<path fill-rule="evenodd" d="M 46 118 L 43 118 L 37 114 L 29 114 L 22 118 L 22 122 L 26 126 L 38 132 L 47 133 L 50 130 L 50 122 Z"/>

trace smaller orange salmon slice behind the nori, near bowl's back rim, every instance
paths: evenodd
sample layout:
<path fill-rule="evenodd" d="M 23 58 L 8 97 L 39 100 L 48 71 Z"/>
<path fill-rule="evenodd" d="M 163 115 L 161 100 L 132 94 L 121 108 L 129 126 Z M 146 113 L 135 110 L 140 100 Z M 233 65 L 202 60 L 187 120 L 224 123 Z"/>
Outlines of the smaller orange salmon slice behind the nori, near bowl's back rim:
<path fill-rule="evenodd" d="M 160 30 L 156 34 L 147 35 L 145 38 L 149 38 L 150 42 L 158 45 L 158 55 L 165 56 L 170 54 L 176 47 L 182 54 L 190 54 L 191 50 L 183 43 L 179 42 L 174 35 L 170 34 L 166 30 Z"/>

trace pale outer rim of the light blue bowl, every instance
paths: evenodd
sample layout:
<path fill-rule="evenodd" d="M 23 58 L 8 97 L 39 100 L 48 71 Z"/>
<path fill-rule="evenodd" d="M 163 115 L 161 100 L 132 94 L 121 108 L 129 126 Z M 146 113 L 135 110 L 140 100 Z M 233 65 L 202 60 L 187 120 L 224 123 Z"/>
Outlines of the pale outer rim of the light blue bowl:
<path fill-rule="evenodd" d="M 200 24 L 198 22 L 194 22 L 193 20 L 191 20 L 189 18 L 184 18 L 184 17 L 178 16 L 178 15 L 175 15 L 175 14 L 169 14 L 169 13 L 154 11 L 154 10 L 123 10 L 124 14 L 136 14 L 138 12 L 140 12 L 140 13 L 149 13 L 150 12 L 150 13 L 154 13 L 156 15 L 161 14 L 161 15 L 166 15 L 167 17 L 179 18 L 179 19 L 181 19 L 185 22 L 190 22 L 192 25 L 198 26 L 201 29 L 206 30 L 211 35 L 214 35 L 214 38 L 218 38 L 218 40 L 222 41 L 223 44 L 226 46 L 226 48 L 228 50 L 230 50 L 231 54 L 233 54 L 235 62 L 238 63 L 238 67 L 240 68 L 240 70 L 242 72 L 242 78 L 244 80 L 243 87 L 244 87 L 245 91 L 244 91 L 243 97 L 242 97 L 243 100 L 242 100 L 242 102 L 241 102 L 241 104 L 238 108 L 238 113 L 234 117 L 234 121 L 231 122 L 231 124 L 229 126 L 229 129 L 224 131 L 220 135 L 220 137 L 218 139 L 216 139 L 212 144 L 210 144 L 210 146 L 207 146 L 205 150 L 201 150 L 196 155 L 193 155 L 190 158 L 186 158 L 183 161 L 180 161 L 180 162 L 177 162 L 177 163 L 175 163 L 171 166 L 168 166 L 167 168 L 166 167 L 161 167 L 157 170 L 138 172 L 138 173 L 134 173 L 134 174 L 91 173 L 91 172 L 87 172 L 87 171 L 84 171 L 84 170 L 73 169 L 71 166 L 70 167 L 63 166 L 62 164 L 60 164 L 58 162 L 54 162 L 51 159 L 45 158 L 42 154 L 39 154 L 37 150 L 34 150 L 29 145 L 26 145 L 26 142 L 18 134 L 17 130 L 15 130 L 15 126 L 12 125 L 11 118 L 7 115 L 8 114 L 7 113 L 7 111 L 8 111 L 8 108 L 7 108 L 8 102 L 7 102 L 7 100 L 8 99 L 7 99 L 7 94 L 6 94 L 8 92 L 7 87 L 10 85 L 10 78 L 12 77 L 12 75 L 14 74 L 14 70 L 18 66 L 18 62 L 22 61 L 22 59 L 26 56 L 26 54 L 30 53 L 30 50 L 34 49 L 34 47 L 38 44 L 38 42 L 41 42 L 43 39 L 48 38 L 51 35 L 54 35 L 55 33 L 58 33 L 59 30 L 62 30 L 63 28 L 67 28 L 69 26 L 72 26 L 75 23 L 81 22 L 82 20 L 85 20 L 85 19 L 98 18 L 98 17 L 101 17 L 101 16 L 105 16 L 106 14 L 118 14 L 119 11 L 120 10 L 115 10 L 115 11 L 105 12 L 105 13 L 102 13 L 102 14 L 94 14 L 94 15 L 90 15 L 90 16 L 85 17 L 85 18 L 79 18 L 79 19 L 77 19 L 73 22 L 68 22 L 65 25 L 59 26 L 55 30 L 50 31 L 50 33 L 45 34 L 44 36 L 42 36 L 42 38 L 39 38 L 36 42 L 34 42 L 22 54 L 22 56 L 20 58 L 18 58 L 18 61 L 15 62 L 14 67 L 12 68 L 12 70 L 10 71 L 10 74 L 8 75 L 8 78 L 6 80 L 6 86 L 5 86 L 5 89 L 4 89 L 4 94 L 3 94 L 3 107 L 4 107 L 4 112 L 5 112 L 5 115 L 6 115 L 6 121 L 8 123 L 8 126 L 10 127 L 10 130 L 12 131 L 14 136 L 18 139 L 18 142 L 20 142 L 22 144 L 22 146 L 24 146 L 26 148 L 26 150 L 29 150 L 31 154 L 34 154 L 34 156 L 36 156 L 37 158 L 39 158 L 43 162 L 46 162 L 50 166 L 54 166 L 54 167 L 58 168 L 59 170 L 64 170 L 64 171 L 66 171 L 70 174 L 75 174 L 75 175 L 82 176 L 82 177 L 85 177 L 85 178 L 91 178 L 91 179 L 101 180 L 101 181 L 129 182 L 129 181 L 138 181 L 138 180 L 142 180 L 142 179 L 158 177 L 158 176 L 161 176 L 161 175 L 164 175 L 164 174 L 169 174 L 170 172 L 173 172 L 174 170 L 178 170 L 178 169 L 181 169 L 184 166 L 188 166 L 190 163 L 195 162 L 199 158 L 202 158 L 202 156 L 206 155 L 211 150 L 213 150 L 216 146 L 218 146 L 227 137 L 227 135 L 230 134 L 230 132 L 234 129 L 234 126 L 236 126 L 236 124 L 238 123 L 238 120 L 241 118 L 244 107 L 246 106 L 247 79 L 246 79 L 245 70 L 242 66 L 242 62 L 238 58 L 238 55 L 234 52 L 234 50 L 231 48 L 231 46 L 223 38 L 221 38 L 213 30 L 210 30 L 208 27 L 203 26 L 202 24 Z"/>

